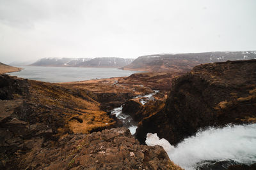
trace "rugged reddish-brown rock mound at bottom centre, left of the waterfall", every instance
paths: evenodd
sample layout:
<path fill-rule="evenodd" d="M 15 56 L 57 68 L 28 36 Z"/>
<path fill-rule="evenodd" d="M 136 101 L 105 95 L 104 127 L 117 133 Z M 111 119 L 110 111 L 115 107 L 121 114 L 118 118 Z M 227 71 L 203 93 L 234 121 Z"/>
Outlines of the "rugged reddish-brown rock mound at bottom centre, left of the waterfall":
<path fill-rule="evenodd" d="M 51 149 L 33 148 L 20 158 L 25 169 L 181 169 L 161 146 L 145 146 L 128 129 L 72 134 Z"/>

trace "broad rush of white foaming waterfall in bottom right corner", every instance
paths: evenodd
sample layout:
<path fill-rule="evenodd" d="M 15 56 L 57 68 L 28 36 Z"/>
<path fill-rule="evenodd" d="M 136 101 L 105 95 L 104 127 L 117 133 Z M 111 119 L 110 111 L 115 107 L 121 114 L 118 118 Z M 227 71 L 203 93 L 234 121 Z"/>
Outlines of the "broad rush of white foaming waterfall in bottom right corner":
<path fill-rule="evenodd" d="M 241 164 L 256 162 L 256 124 L 211 127 L 184 139 L 177 147 L 156 137 L 157 134 L 148 134 L 147 145 L 163 146 L 170 159 L 184 169 L 195 169 L 205 160 L 234 160 Z"/>

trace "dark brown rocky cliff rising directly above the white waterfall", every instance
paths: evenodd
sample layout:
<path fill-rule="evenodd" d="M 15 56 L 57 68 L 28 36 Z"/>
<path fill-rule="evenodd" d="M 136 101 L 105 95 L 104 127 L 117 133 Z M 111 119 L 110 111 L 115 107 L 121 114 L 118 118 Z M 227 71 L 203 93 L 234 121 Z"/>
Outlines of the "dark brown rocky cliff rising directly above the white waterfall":
<path fill-rule="evenodd" d="M 208 126 L 256 122 L 256 60 L 196 66 L 173 82 L 163 110 L 144 118 L 136 131 L 176 145 Z"/>

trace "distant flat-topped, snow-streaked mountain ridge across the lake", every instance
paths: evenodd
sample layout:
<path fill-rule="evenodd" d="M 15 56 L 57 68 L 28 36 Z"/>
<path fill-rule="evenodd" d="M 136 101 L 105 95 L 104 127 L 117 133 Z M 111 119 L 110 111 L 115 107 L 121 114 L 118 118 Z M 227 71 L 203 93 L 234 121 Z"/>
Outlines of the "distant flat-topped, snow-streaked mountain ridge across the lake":
<path fill-rule="evenodd" d="M 43 58 L 29 66 L 52 66 L 52 67 L 124 67 L 134 59 L 123 59 L 118 57 L 98 58 Z"/>

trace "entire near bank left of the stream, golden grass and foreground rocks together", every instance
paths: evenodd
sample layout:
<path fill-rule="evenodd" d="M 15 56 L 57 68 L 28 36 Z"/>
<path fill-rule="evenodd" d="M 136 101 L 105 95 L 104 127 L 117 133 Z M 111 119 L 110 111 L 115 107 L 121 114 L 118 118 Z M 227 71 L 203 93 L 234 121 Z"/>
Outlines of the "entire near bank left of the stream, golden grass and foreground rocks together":
<path fill-rule="evenodd" d="M 120 124 L 97 101 L 84 88 L 0 75 L 0 169 L 180 169 L 128 129 L 102 131 Z"/>

